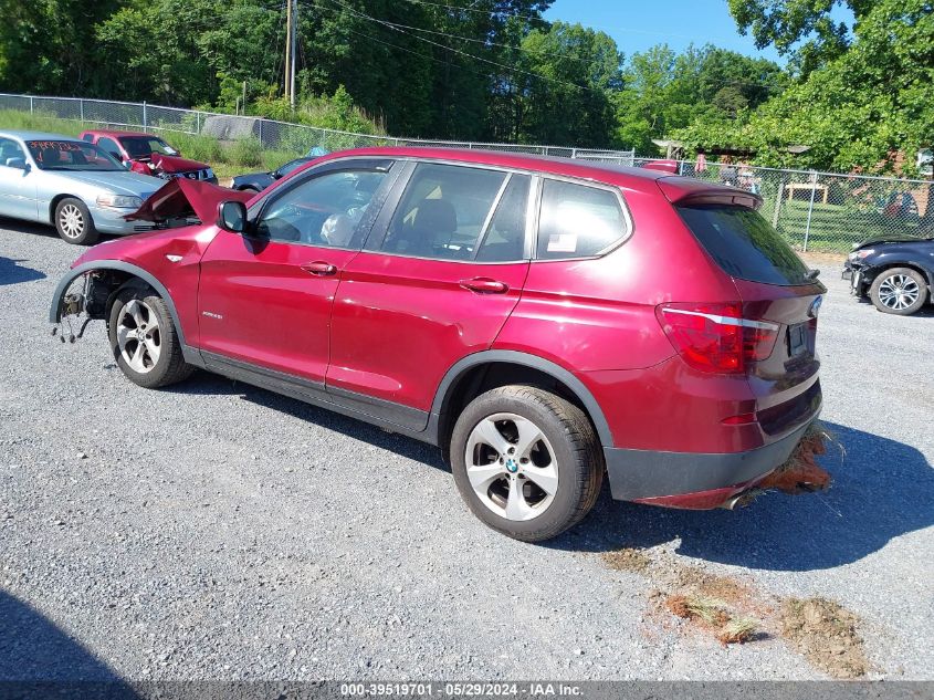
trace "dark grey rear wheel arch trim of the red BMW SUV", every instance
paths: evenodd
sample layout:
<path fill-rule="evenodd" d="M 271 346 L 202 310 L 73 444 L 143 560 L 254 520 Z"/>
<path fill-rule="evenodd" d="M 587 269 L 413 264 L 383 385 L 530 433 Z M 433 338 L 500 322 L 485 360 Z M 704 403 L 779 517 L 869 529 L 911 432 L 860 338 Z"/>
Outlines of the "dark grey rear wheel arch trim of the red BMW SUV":
<path fill-rule="evenodd" d="M 451 432 L 463 409 L 478 396 L 510 385 L 534 386 L 580 408 L 602 447 L 612 447 L 606 416 L 590 390 L 568 369 L 537 355 L 516 351 L 484 351 L 469 355 L 444 375 L 431 407 L 438 421 L 438 443 L 445 459 Z"/>

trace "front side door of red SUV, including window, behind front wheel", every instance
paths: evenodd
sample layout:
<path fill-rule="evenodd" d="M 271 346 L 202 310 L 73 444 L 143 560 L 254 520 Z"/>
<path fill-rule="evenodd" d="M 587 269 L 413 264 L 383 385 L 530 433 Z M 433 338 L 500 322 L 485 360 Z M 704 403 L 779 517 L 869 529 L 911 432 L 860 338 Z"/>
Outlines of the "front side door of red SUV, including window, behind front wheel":
<path fill-rule="evenodd" d="M 218 232 L 201 260 L 198 296 L 209 366 L 232 359 L 323 388 L 334 296 L 391 166 L 325 164 L 258 203 L 248 236 Z"/>

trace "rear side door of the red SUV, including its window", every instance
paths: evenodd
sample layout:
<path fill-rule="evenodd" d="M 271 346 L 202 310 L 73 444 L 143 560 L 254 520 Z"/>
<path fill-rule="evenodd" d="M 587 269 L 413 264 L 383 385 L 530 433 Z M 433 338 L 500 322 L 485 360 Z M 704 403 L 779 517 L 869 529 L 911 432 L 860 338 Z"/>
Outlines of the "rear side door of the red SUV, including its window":
<path fill-rule="evenodd" d="M 533 178 L 411 164 L 395 208 L 343 272 L 328 391 L 420 429 L 441 378 L 489 348 L 528 272 Z"/>

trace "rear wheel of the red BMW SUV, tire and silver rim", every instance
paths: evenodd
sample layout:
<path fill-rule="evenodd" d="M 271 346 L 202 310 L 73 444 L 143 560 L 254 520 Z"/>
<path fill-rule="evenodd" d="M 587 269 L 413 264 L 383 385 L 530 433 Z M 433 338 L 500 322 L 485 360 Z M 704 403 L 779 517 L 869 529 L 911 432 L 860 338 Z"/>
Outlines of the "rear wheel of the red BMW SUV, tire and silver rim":
<path fill-rule="evenodd" d="M 600 442 L 584 411 L 531 386 L 475 398 L 454 425 L 451 466 L 473 514 L 524 542 L 577 524 L 604 480 Z"/>

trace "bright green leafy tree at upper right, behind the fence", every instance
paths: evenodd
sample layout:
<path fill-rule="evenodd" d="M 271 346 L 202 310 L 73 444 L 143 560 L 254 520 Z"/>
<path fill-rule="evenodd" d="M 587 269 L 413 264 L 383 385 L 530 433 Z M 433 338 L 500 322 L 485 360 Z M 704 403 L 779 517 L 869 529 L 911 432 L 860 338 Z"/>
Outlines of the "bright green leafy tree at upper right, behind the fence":
<path fill-rule="evenodd" d="M 763 165 L 893 170 L 898 154 L 934 143 L 934 2 L 879 0 L 852 45 L 732 124 L 699 121 L 676 134 L 692 147 L 736 145 Z M 809 150 L 795 157 L 787 146 Z"/>

